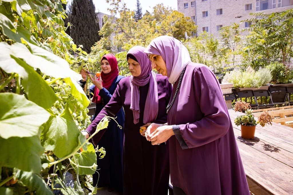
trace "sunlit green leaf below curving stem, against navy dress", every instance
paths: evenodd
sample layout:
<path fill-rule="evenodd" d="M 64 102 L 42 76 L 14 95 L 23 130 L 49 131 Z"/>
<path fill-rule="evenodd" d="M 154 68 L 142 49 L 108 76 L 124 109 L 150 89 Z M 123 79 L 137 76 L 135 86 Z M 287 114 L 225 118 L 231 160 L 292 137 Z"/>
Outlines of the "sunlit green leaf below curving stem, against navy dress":
<path fill-rule="evenodd" d="M 81 166 L 86 166 L 90 167 L 93 166 L 93 164 L 97 163 L 97 155 L 95 152 L 95 149 L 93 147 L 93 144 L 91 143 L 86 143 L 87 144 L 87 150 L 82 151 L 81 153 L 76 153 L 74 154 L 74 158 L 72 161 L 75 164 L 81 165 Z M 76 167 L 73 163 L 71 163 L 73 167 Z M 96 171 L 97 167 L 93 168 L 84 168 L 84 167 L 79 167 L 79 175 L 93 175 Z"/>

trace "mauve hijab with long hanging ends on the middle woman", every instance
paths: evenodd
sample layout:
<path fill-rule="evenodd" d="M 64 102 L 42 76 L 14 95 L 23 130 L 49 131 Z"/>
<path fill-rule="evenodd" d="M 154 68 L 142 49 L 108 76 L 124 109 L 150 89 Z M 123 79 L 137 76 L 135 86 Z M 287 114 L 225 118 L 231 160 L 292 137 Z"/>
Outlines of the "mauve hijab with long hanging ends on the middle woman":
<path fill-rule="evenodd" d="M 143 123 L 154 121 L 158 115 L 158 86 L 156 75 L 151 71 L 151 61 L 143 53 L 144 47 L 132 47 L 128 53 L 133 55 L 140 65 L 142 72 L 137 77 L 130 77 L 131 102 L 130 109 L 133 112 L 133 122 L 139 122 L 139 86 L 144 86 L 149 83 L 149 91 L 147 93 L 147 100 L 144 106 Z M 126 56 L 127 56 L 126 55 Z M 128 60 L 128 57 L 126 57 Z"/>

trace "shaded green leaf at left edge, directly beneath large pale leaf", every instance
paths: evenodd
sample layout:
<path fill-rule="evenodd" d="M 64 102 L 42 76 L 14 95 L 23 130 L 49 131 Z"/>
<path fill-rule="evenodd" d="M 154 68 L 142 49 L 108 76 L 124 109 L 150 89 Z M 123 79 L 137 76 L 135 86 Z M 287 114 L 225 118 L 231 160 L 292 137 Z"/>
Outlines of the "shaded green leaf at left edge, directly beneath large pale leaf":
<path fill-rule="evenodd" d="M 1 128 L 1 131 L 11 131 L 11 129 Z M 10 137 L 8 139 L 0 137 L 0 167 L 15 167 L 39 173 L 42 170 L 40 156 L 44 152 L 39 136 Z"/>

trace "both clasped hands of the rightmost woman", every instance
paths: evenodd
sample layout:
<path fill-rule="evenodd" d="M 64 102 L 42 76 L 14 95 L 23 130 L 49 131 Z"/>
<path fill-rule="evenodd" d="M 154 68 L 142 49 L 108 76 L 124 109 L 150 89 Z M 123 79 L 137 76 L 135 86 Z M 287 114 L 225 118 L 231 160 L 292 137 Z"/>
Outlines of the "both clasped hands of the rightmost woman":
<path fill-rule="evenodd" d="M 172 135 L 174 135 L 172 125 L 162 125 L 156 123 L 152 123 L 147 128 L 146 132 L 147 140 L 151 141 L 152 145 L 159 145 L 166 142 Z"/>

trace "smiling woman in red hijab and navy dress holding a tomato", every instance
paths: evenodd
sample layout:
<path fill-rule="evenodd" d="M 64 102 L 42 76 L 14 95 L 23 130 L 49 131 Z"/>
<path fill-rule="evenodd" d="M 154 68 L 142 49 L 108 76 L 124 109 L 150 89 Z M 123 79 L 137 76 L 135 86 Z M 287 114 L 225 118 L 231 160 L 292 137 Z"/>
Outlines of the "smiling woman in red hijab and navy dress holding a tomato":
<path fill-rule="evenodd" d="M 81 71 L 82 77 L 86 78 L 86 72 Z M 119 75 L 117 59 L 113 54 L 106 54 L 101 59 L 101 75 L 97 79 L 88 74 L 93 85 L 90 87 L 90 94 L 93 94 L 93 102 L 96 103 L 96 113 L 93 119 L 109 102 L 117 84 L 124 76 Z M 83 82 L 82 84 L 85 84 Z M 125 115 L 123 109 L 116 113 L 115 119 L 123 127 Z M 115 116 L 115 117 L 116 117 Z M 106 151 L 104 158 L 97 158 L 98 170 L 93 174 L 93 186 L 108 187 L 108 191 L 113 189 L 123 192 L 122 175 L 122 148 L 123 148 L 123 128 L 117 127 L 117 123 L 111 120 L 108 130 L 98 142 L 93 142 L 99 148 L 103 147 Z M 97 153 L 98 155 L 98 153 Z"/>

